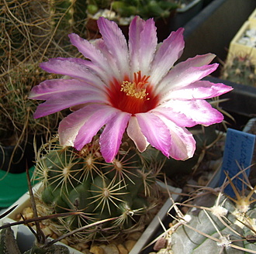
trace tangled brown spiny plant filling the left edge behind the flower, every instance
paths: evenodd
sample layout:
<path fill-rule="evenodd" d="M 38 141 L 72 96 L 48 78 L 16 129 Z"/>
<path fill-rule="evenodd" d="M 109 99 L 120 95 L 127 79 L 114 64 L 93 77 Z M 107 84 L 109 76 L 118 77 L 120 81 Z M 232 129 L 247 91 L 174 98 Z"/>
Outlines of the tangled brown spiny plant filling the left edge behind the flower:
<path fill-rule="evenodd" d="M 67 38 L 67 33 L 74 29 L 80 33 L 85 31 L 85 27 L 84 30 L 80 27 L 85 16 L 78 15 L 78 10 L 85 10 L 80 6 L 81 1 L 68 1 L 68 6 L 64 6 L 64 2 L 67 1 L 0 2 L 0 152 L 4 156 L 0 161 L 1 170 L 9 170 L 13 163 L 22 160 L 26 144 L 33 146 L 29 135 L 46 136 L 55 132 L 62 118 L 61 114 L 54 114 L 39 121 L 33 119 L 32 112 L 38 103 L 28 100 L 27 95 L 34 85 L 55 77 L 42 72 L 38 63 L 49 57 L 71 56 L 72 48 L 61 45 L 65 44 L 62 37 Z M 74 16 L 79 20 L 74 20 Z M 16 147 L 6 163 L 2 147 L 12 145 Z"/>

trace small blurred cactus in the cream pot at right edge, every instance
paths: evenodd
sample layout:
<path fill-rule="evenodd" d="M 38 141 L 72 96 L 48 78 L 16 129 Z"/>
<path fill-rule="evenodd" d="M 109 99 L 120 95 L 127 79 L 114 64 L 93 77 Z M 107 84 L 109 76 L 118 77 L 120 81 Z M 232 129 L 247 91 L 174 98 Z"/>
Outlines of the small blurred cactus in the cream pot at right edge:
<path fill-rule="evenodd" d="M 222 78 L 256 87 L 256 66 L 250 57 L 233 57 L 224 64 Z"/>

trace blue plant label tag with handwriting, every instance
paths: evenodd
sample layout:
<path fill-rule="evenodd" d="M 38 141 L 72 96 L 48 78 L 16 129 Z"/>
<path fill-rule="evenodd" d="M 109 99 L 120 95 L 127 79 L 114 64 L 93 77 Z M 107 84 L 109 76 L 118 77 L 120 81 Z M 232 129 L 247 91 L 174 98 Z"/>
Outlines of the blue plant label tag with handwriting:
<path fill-rule="evenodd" d="M 249 176 L 251 160 L 254 153 L 254 142 L 255 135 L 253 134 L 240 132 L 236 129 L 227 129 L 223 163 L 220 172 L 220 186 L 222 186 L 226 179 L 225 172 L 232 178 L 241 170 L 247 169 L 244 172 Z M 237 190 L 241 191 L 243 183 L 238 178 L 244 179 L 243 173 L 240 173 L 238 177 L 232 180 Z M 230 184 L 227 185 L 224 193 L 230 197 L 234 197 L 234 191 Z"/>

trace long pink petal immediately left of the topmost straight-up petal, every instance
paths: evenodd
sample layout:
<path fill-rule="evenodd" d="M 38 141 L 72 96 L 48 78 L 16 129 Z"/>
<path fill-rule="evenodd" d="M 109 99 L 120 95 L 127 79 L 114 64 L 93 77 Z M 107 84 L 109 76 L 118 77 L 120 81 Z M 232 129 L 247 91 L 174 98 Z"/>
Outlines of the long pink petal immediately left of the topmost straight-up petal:
<path fill-rule="evenodd" d="M 116 59 L 116 64 L 119 67 L 119 71 L 123 76 L 130 75 L 130 66 L 128 58 L 128 47 L 126 38 L 123 35 L 121 29 L 117 26 L 116 22 L 109 21 L 103 17 L 98 19 L 99 33 L 102 34 L 104 43 L 112 54 L 112 57 Z"/>

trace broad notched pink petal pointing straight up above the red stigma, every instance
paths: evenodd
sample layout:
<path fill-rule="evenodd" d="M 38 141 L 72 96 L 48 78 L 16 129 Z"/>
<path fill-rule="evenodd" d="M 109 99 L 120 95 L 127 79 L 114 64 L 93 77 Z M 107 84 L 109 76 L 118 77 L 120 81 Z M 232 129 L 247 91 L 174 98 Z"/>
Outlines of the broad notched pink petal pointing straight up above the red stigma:
<path fill-rule="evenodd" d="M 131 72 L 141 70 L 142 74 L 150 74 L 150 64 L 154 59 L 157 46 L 157 31 L 154 19 L 144 21 L 139 16 L 130 23 L 129 50 Z"/>

